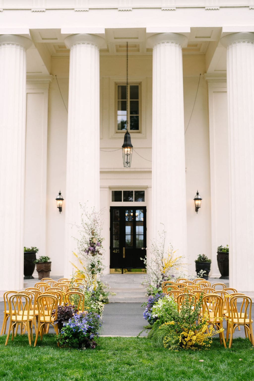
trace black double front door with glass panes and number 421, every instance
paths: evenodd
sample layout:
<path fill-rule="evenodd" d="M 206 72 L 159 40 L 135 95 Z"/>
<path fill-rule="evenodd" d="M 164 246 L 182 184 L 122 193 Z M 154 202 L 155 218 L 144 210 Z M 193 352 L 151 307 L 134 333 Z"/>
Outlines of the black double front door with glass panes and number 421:
<path fill-rule="evenodd" d="M 110 207 L 110 269 L 144 269 L 146 208 Z"/>

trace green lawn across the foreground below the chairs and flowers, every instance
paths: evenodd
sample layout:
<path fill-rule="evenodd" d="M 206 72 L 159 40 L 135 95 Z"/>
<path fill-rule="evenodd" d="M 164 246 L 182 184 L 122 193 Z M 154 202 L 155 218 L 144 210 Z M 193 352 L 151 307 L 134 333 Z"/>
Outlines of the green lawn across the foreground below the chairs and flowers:
<path fill-rule="evenodd" d="M 94 350 L 60 349 L 54 335 L 45 335 L 34 348 L 27 336 L 17 336 L 5 347 L 2 336 L 0 380 L 254 380 L 254 350 L 248 339 L 234 339 L 231 349 L 214 339 L 210 350 L 197 352 L 171 352 L 147 338 L 105 337 L 97 342 Z"/>

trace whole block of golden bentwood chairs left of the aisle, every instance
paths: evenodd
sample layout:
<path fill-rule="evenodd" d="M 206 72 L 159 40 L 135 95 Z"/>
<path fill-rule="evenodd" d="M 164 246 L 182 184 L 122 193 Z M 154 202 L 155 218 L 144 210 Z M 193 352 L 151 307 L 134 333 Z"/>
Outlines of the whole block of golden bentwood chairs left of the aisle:
<path fill-rule="evenodd" d="M 10 331 L 13 331 L 13 340 L 14 328 L 16 327 L 16 336 L 19 326 L 21 334 L 27 330 L 29 344 L 31 345 L 31 338 L 33 340 L 32 325 L 34 324 L 36 333 L 34 346 L 36 346 L 39 332 L 42 339 L 43 332 L 48 332 L 50 324 L 53 325 L 57 334 L 58 326 L 54 320 L 57 319 L 57 308 L 62 303 L 75 304 L 78 313 L 84 311 L 85 297 L 80 292 L 80 288 L 72 287 L 70 290 L 70 286 L 66 283 L 59 283 L 61 282 L 56 283 L 58 287 L 50 287 L 50 284 L 46 282 L 39 282 L 35 284 L 37 287 L 29 287 L 19 292 L 11 290 L 4 293 L 4 318 L 1 335 L 5 333 L 7 321 L 10 318 L 5 345 L 8 343 Z M 74 284 L 74 286 L 76 285 L 78 286 L 77 283 Z M 51 316 L 53 310 L 56 312 L 54 316 Z"/>

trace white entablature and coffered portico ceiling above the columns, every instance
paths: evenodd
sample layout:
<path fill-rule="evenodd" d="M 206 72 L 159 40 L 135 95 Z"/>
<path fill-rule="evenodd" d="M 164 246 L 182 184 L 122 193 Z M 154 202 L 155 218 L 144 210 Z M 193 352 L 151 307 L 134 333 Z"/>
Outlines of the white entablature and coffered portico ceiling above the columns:
<path fill-rule="evenodd" d="M 225 74 L 226 49 L 220 38 L 254 31 L 254 0 L 0 0 L 0 34 L 30 37 L 27 74 L 50 74 L 51 57 L 69 56 L 64 38 L 91 33 L 105 39 L 101 56 L 152 55 L 147 38 L 186 35 L 184 56 L 203 55 L 206 72 Z"/>

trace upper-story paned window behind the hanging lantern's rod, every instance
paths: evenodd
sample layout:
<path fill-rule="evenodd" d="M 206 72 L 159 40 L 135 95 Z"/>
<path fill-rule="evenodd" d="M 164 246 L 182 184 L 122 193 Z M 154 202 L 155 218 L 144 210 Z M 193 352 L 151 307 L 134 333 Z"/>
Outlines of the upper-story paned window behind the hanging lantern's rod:
<path fill-rule="evenodd" d="M 130 131 L 140 131 L 140 85 L 128 85 L 128 120 Z M 126 85 L 117 85 L 117 131 L 126 131 Z"/>

